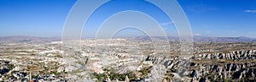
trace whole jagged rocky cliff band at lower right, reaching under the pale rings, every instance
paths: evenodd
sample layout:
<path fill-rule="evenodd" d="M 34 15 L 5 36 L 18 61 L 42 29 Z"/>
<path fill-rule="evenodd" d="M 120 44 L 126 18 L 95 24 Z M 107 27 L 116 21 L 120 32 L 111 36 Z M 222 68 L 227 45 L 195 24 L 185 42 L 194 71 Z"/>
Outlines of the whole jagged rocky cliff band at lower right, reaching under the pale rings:
<path fill-rule="evenodd" d="M 179 57 L 147 57 L 146 61 L 152 61 L 154 64 L 164 64 L 169 70 L 166 71 L 166 76 L 163 77 L 165 80 L 170 77 L 171 73 L 171 76 L 174 76 L 171 77 L 170 80 L 176 80 L 175 78 L 179 77 L 183 79 L 186 77 L 192 82 L 217 80 L 255 81 L 255 58 L 256 50 L 242 50 L 227 53 L 196 54 L 191 57 L 191 60 L 187 60 L 190 61 L 188 63 L 183 63 L 185 60 Z"/>

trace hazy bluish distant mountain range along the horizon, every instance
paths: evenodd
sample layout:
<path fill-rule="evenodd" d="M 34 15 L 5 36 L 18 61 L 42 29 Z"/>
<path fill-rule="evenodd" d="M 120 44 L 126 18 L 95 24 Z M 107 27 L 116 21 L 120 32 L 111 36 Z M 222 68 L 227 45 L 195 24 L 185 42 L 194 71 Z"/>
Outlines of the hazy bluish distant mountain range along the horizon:
<path fill-rule="evenodd" d="M 127 40 L 135 41 L 150 41 L 148 36 L 134 37 L 119 37 Z M 178 36 L 168 36 L 169 41 L 179 41 Z M 165 40 L 162 36 L 152 36 L 151 39 Z M 38 37 L 38 36 L 4 36 L 0 37 L 0 42 L 46 42 L 46 41 L 61 41 L 61 37 Z M 245 36 L 240 37 L 208 37 L 208 36 L 193 36 L 195 42 L 256 42 L 256 38 Z"/>

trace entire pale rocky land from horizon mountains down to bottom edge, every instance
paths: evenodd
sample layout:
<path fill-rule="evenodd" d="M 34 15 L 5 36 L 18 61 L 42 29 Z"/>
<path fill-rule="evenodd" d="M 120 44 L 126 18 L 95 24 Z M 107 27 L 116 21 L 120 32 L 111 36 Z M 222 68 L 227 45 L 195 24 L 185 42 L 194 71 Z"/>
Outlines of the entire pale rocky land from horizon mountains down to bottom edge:
<path fill-rule="evenodd" d="M 161 37 L 153 38 L 156 41 L 147 36 L 86 38 L 79 41 L 81 49 L 66 46 L 64 50 L 60 38 L 0 37 L 0 81 L 256 80 L 255 38 L 194 36 L 193 53 L 186 61 L 180 57 L 183 48 L 177 37 L 170 36 L 168 41 Z M 180 67 L 187 68 L 182 70 Z"/>

